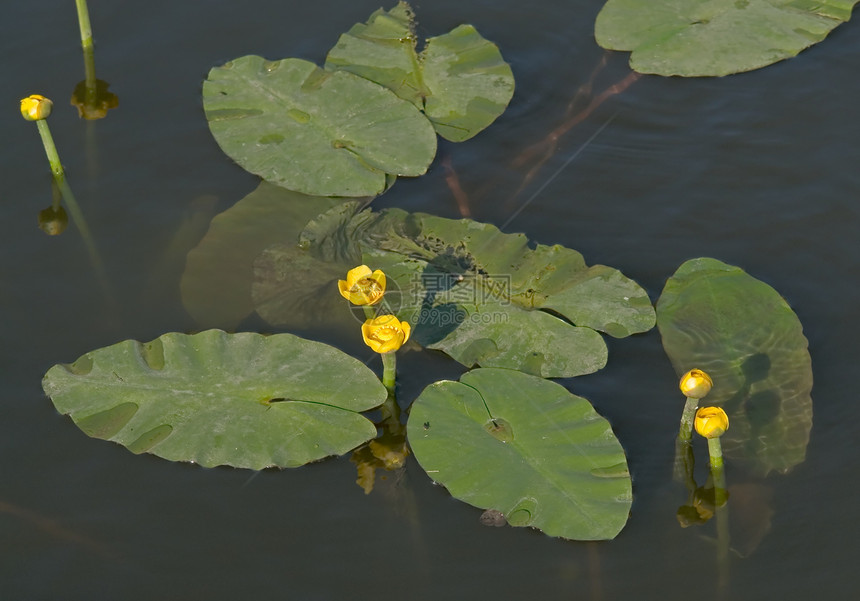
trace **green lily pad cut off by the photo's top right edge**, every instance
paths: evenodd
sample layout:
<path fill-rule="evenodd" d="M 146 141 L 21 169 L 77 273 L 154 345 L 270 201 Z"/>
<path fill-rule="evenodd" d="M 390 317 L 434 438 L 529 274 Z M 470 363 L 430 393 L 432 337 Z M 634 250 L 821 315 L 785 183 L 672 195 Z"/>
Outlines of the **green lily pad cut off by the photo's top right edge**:
<path fill-rule="evenodd" d="M 857 0 L 608 0 L 597 43 L 657 75 L 721 76 L 795 56 L 851 18 Z"/>

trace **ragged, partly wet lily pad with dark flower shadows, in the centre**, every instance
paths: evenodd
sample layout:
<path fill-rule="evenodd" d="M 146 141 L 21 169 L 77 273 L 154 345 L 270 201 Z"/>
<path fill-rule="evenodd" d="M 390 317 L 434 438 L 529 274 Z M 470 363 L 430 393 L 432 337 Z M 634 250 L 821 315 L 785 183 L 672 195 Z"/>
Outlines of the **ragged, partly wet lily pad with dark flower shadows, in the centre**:
<path fill-rule="evenodd" d="M 466 366 L 543 377 L 592 373 L 607 358 L 596 330 L 624 337 L 654 325 L 638 284 L 615 269 L 588 267 L 574 250 L 530 248 L 522 234 L 468 219 L 359 208 L 321 215 L 300 245 L 320 261 L 382 269 L 393 289 L 387 310 L 412 325 L 419 344 Z M 276 280 L 289 269 L 286 257 L 257 277 Z"/>

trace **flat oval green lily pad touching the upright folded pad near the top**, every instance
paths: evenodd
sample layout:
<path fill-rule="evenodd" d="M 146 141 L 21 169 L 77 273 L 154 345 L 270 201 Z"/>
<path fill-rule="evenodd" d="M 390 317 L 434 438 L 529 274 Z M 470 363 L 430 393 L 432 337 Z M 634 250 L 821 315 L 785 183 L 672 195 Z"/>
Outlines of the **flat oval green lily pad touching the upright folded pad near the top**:
<path fill-rule="evenodd" d="M 388 174 L 421 175 L 436 154 L 414 105 L 346 71 L 244 56 L 215 67 L 203 108 L 221 149 L 242 167 L 317 196 L 375 196 Z"/>

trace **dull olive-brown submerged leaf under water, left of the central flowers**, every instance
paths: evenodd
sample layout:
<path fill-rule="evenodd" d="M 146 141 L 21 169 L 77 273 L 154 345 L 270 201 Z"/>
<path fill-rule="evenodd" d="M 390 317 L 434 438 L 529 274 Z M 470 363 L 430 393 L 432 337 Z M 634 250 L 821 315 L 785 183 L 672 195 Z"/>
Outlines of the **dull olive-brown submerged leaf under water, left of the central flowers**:
<path fill-rule="evenodd" d="M 297 243 L 310 220 L 343 202 L 262 182 L 216 215 L 206 236 L 188 253 L 181 282 L 185 309 L 201 327 L 235 328 L 255 308 L 255 259 L 275 243 Z"/>

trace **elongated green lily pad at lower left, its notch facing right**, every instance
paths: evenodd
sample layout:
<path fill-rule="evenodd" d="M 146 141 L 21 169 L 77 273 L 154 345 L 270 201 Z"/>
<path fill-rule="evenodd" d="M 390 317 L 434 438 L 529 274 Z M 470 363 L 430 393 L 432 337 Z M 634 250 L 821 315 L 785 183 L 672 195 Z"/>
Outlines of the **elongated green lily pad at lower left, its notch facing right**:
<path fill-rule="evenodd" d="M 291 334 L 207 330 L 126 340 L 55 365 L 42 382 L 87 435 L 205 467 L 295 467 L 376 436 L 385 400 L 360 361 Z"/>

